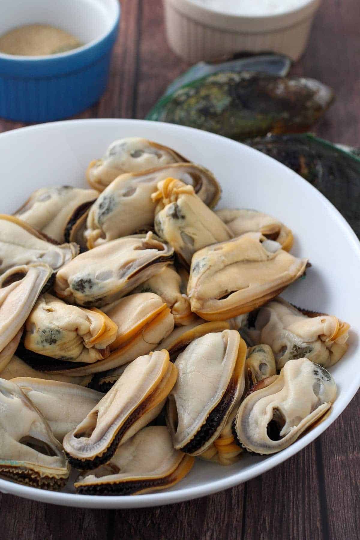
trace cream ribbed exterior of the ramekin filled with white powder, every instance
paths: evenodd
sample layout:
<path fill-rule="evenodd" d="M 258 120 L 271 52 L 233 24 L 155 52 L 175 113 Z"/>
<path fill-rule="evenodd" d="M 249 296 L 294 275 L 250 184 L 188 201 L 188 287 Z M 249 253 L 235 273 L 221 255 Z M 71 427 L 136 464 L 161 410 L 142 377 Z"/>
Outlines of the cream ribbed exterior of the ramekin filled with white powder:
<path fill-rule="evenodd" d="M 240 51 L 274 51 L 300 58 L 321 0 L 280 15 L 237 16 L 191 0 L 163 0 L 167 40 L 188 62 L 212 60 Z M 255 1 L 255 0 L 254 0 Z"/>

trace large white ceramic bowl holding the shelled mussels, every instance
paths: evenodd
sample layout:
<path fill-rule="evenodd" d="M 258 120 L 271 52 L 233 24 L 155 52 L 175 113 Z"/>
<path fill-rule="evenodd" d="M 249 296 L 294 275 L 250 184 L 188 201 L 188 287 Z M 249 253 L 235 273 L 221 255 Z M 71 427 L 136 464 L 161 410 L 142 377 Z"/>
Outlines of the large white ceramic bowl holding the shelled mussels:
<path fill-rule="evenodd" d="M 36 188 L 71 184 L 85 187 L 89 161 L 121 137 L 146 137 L 208 167 L 222 188 L 221 206 L 256 208 L 291 227 L 292 252 L 313 265 L 284 298 L 296 305 L 335 314 L 351 323 L 349 350 L 331 368 L 338 396 L 330 415 L 292 446 L 269 457 L 244 455 L 222 467 L 196 461 L 191 473 L 166 491 L 149 495 L 100 497 L 51 492 L 0 480 L 0 490 L 36 501 L 86 508 L 139 508 L 185 501 L 232 487 L 293 456 L 324 431 L 360 386 L 360 243 L 323 195 L 277 161 L 233 140 L 190 127 L 146 120 L 72 120 L 26 127 L 0 135 L 2 202 L 11 213 Z M 336 444 L 336 441 L 334 442 Z M 325 465 L 326 466 L 326 465 Z M 294 477 L 294 482 L 301 481 Z"/>

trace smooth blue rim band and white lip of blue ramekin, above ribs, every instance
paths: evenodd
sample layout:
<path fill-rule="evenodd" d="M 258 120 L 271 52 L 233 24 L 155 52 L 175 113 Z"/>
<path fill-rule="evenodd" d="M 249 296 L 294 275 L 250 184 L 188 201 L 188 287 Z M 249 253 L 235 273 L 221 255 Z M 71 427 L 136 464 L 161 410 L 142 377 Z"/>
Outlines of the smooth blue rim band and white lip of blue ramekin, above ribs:
<path fill-rule="evenodd" d="M 121 5 L 114 1 L 116 17 L 111 28 L 99 38 L 86 43 L 78 49 L 51 56 L 13 56 L 0 53 L 0 78 L 36 79 L 54 77 L 80 71 L 87 65 L 105 56 L 117 38 L 117 29 L 121 15 Z"/>

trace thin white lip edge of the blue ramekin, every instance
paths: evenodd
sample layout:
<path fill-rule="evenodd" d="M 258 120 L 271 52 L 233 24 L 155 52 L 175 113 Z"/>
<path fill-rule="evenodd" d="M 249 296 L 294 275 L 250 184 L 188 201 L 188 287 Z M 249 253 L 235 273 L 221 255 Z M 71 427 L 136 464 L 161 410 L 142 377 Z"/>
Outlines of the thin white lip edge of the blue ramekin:
<path fill-rule="evenodd" d="M 93 47 L 96 47 L 101 42 L 106 40 L 108 36 L 114 31 L 116 26 L 119 23 L 120 16 L 121 16 L 121 4 L 119 0 L 109 0 L 114 8 L 114 15 L 113 15 L 113 21 L 109 28 L 103 32 L 99 37 L 96 39 L 92 39 L 89 43 L 85 43 L 84 45 L 81 45 L 80 47 L 76 47 L 75 49 L 71 49 L 70 51 L 64 51 L 64 52 L 57 52 L 55 55 L 37 55 L 37 56 L 24 56 L 24 55 L 8 55 L 5 52 L 0 51 L 0 60 L 6 60 L 8 62 L 22 62 L 22 63 L 38 63 L 38 62 L 56 62 L 56 60 L 61 58 L 69 58 L 74 57 L 76 55 L 80 55 L 81 53 L 84 53 L 88 51 L 89 49 L 92 49 Z M 21 129 L 21 128 L 18 128 Z M 14 130 L 13 130 L 14 131 Z"/>

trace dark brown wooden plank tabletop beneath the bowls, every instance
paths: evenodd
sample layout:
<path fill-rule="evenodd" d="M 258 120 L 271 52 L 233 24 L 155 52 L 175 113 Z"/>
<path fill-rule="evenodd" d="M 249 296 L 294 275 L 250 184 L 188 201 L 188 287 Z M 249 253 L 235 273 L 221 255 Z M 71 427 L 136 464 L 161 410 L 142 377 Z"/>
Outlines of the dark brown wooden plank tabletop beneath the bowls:
<path fill-rule="evenodd" d="M 144 118 L 188 66 L 169 50 L 161 0 L 121 0 L 123 15 L 104 97 L 80 118 Z M 314 131 L 360 146 L 359 0 L 324 0 L 296 75 L 337 100 Z M 22 124 L 0 120 L 0 130 Z M 360 201 L 359 201 L 360 204 Z M 268 473 L 199 500 L 139 510 L 81 510 L 1 495 L 2 540 L 360 538 L 360 393 L 323 435 Z"/>

